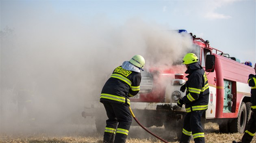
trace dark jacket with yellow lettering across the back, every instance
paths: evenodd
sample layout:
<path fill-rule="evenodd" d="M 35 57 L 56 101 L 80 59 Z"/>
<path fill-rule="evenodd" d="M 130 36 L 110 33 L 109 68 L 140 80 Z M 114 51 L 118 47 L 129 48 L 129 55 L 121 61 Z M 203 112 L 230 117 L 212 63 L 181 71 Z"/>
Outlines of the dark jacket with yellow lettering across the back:
<path fill-rule="evenodd" d="M 141 73 L 117 67 L 106 81 L 100 95 L 100 102 L 109 101 L 130 105 L 129 97 L 140 90 Z"/>

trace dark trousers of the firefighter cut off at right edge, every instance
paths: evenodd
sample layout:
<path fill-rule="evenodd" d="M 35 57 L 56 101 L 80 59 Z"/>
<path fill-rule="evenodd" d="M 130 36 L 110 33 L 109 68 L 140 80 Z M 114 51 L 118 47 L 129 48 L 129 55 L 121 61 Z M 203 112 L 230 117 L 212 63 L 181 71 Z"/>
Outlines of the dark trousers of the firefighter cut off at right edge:
<path fill-rule="evenodd" d="M 256 109 L 252 109 L 251 118 L 248 121 L 247 129 L 242 137 L 242 143 L 250 143 L 256 132 Z"/>

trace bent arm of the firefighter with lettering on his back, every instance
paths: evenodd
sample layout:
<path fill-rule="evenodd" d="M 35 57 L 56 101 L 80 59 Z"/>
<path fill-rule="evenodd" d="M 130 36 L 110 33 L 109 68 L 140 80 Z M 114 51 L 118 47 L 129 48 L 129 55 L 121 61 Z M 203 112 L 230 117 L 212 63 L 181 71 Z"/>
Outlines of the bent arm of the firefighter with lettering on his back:
<path fill-rule="evenodd" d="M 131 85 L 131 88 L 129 89 L 129 97 L 133 97 L 139 93 L 140 84 L 141 84 L 141 74 L 138 74 L 132 79 L 132 85 Z"/>

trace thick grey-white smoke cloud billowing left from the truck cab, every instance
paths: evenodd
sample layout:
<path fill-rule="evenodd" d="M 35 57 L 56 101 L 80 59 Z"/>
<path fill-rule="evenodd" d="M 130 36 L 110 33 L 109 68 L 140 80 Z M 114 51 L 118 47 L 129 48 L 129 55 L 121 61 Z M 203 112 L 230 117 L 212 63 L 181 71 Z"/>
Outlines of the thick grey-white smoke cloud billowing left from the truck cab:
<path fill-rule="evenodd" d="M 48 14 L 31 14 L 1 31 L 1 132 L 17 130 L 30 112 L 18 113 L 20 84 L 33 90 L 35 123 L 52 130 L 83 120 L 86 101 L 99 100 L 108 75 L 123 61 L 139 54 L 146 69 L 165 68 L 192 46 L 189 34 L 141 19 L 117 25 L 103 16 Z"/>

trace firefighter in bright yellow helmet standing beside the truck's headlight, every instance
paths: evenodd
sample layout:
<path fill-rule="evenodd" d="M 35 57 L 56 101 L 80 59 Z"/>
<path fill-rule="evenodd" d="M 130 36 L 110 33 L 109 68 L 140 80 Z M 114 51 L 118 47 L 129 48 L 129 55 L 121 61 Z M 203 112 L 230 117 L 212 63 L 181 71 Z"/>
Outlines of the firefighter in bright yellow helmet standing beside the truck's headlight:
<path fill-rule="evenodd" d="M 186 96 L 178 100 L 178 106 L 185 104 L 187 111 L 184 117 L 184 124 L 180 143 L 189 143 L 191 135 L 195 143 L 204 143 L 204 129 L 201 124 L 203 112 L 208 108 L 209 86 L 204 69 L 199 64 L 198 58 L 193 53 L 188 53 L 183 58 L 186 65 L 187 82 L 180 90 L 186 90 Z"/>

